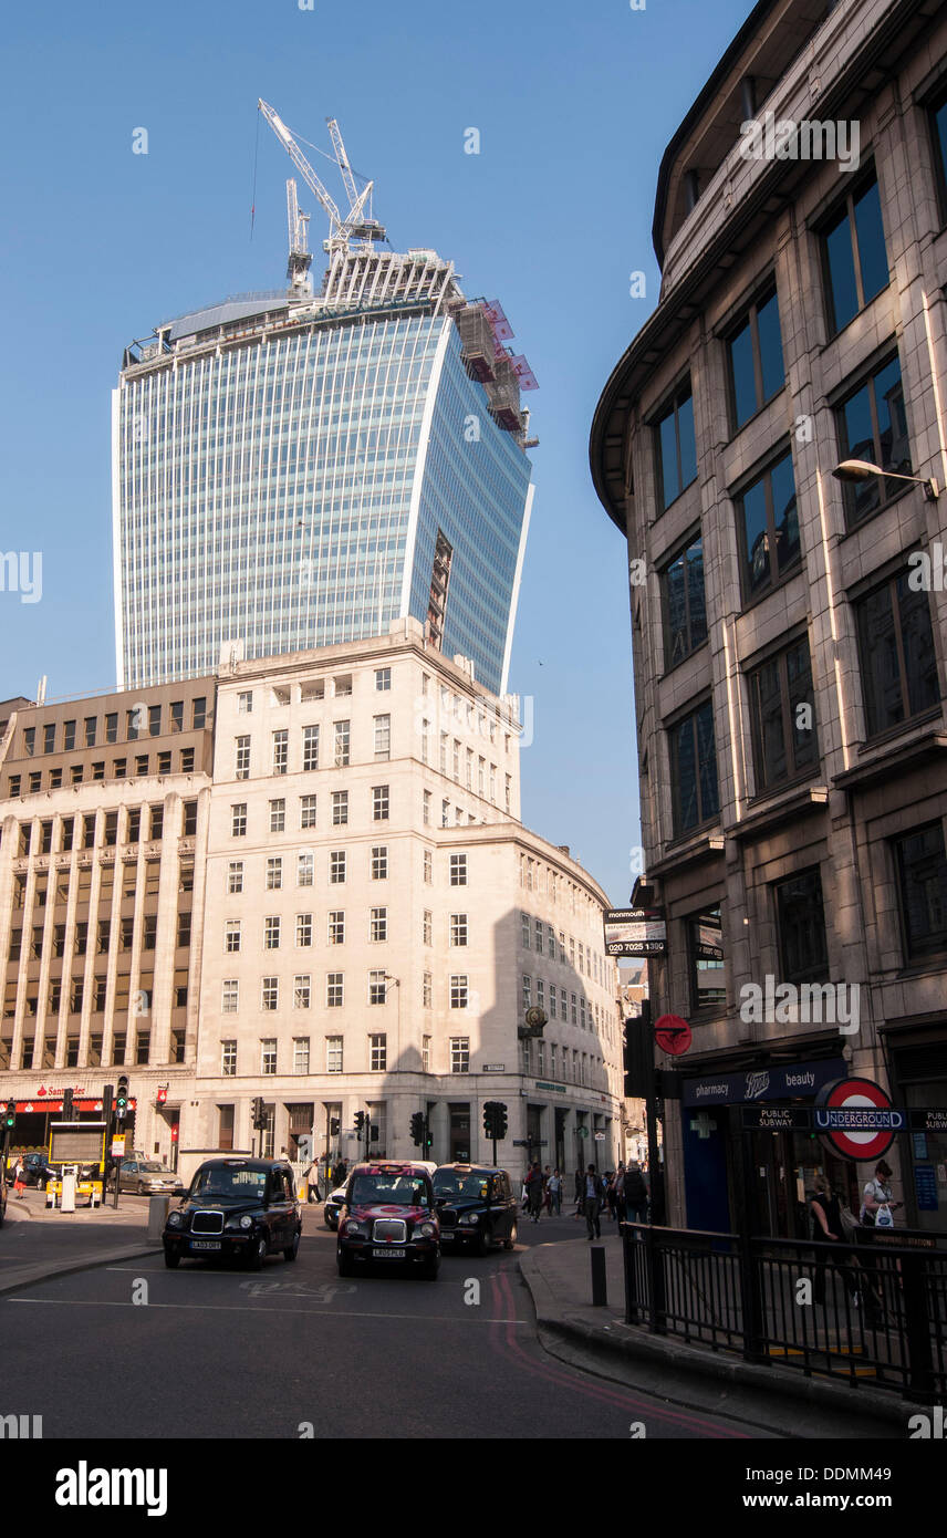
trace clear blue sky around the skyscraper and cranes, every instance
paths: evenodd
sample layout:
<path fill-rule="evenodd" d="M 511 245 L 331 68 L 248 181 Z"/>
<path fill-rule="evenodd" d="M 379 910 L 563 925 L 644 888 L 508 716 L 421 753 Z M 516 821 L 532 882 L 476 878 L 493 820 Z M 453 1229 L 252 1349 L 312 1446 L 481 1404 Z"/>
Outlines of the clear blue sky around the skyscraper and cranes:
<path fill-rule="evenodd" d="M 257 98 L 375 178 L 395 249 L 434 246 L 500 298 L 540 391 L 541 443 L 510 687 L 533 697 L 523 820 L 615 904 L 638 843 L 621 538 L 592 491 L 598 395 L 653 308 L 661 154 L 749 0 L 54 0 L 5 15 L 3 551 L 43 597 L 0 592 L 0 697 L 115 681 L 109 392 L 163 318 L 283 285 L 291 163 Z M 132 134 L 148 129 L 148 155 Z M 481 152 L 464 154 L 478 128 Z M 251 240 L 254 160 L 255 228 Z M 317 169 L 331 168 L 314 157 Z M 341 189 L 331 183 L 332 191 Z M 323 229 L 312 198 L 312 243 Z M 647 274 L 647 300 L 629 274 Z"/>

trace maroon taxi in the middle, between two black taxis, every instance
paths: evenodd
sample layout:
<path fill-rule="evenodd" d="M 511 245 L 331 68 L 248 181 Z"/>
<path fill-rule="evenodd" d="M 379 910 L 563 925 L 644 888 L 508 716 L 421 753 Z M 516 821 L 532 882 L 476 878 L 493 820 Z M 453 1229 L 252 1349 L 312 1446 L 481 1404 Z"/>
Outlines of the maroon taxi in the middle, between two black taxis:
<path fill-rule="evenodd" d="M 441 1264 L 440 1224 L 423 1164 L 357 1164 L 338 1213 L 338 1275 L 375 1266 L 412 1266 L 429 1281 Z"/>

